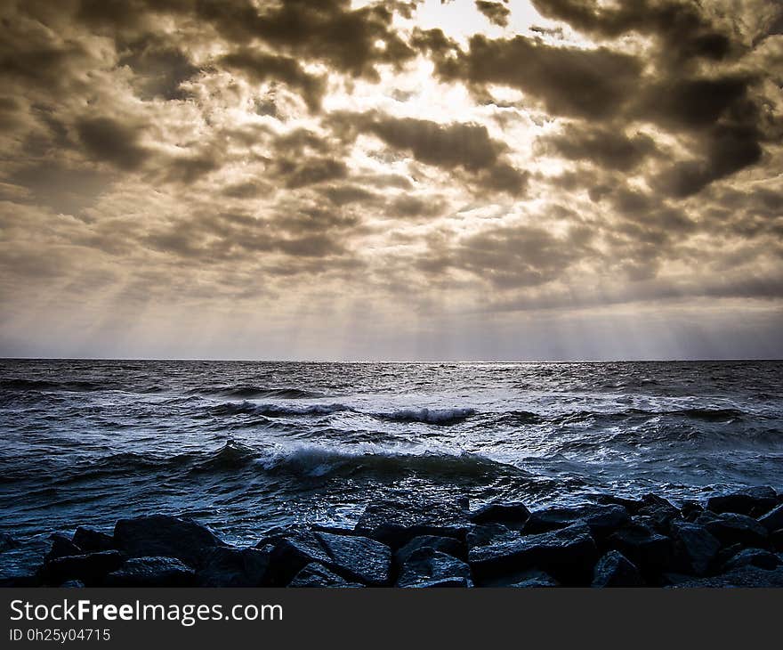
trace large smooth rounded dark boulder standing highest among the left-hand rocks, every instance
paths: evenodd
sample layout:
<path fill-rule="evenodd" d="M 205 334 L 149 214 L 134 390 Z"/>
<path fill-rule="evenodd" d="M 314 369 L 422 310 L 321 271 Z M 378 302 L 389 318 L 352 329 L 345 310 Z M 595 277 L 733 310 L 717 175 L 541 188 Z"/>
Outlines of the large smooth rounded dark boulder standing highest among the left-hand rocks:
<path fill-rule="evenodd" d="M 190 566 L 197 565 L 205 548 L 224 546 L 205 526 L 168 515 L 120 519 L 114 542 L 130 557 L 176 557 Z"/>

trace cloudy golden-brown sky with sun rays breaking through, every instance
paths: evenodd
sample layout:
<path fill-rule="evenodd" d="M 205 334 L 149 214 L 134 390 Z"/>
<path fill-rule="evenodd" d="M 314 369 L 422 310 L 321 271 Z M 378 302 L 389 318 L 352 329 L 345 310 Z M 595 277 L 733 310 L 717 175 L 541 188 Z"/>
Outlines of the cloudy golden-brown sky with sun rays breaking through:
<path fill-rule="evenodd" d="M 3 0 L 0 356 L 783 358 L 775 0 Z"/>

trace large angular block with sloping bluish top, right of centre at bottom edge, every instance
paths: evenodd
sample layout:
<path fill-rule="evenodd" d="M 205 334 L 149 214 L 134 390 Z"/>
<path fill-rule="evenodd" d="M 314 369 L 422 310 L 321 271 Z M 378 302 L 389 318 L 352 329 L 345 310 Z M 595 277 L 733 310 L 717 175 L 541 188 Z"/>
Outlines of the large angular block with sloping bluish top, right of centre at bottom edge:
<path fill-rule="evenodd" d="M 539 569 L 567 584 L 584 583 L 588 581 L 597 557 L 598 551 L 586 524 L 520 536 L 516 540 L 471 548 L 468 552 L 473 576 L 480 581 Z"/>

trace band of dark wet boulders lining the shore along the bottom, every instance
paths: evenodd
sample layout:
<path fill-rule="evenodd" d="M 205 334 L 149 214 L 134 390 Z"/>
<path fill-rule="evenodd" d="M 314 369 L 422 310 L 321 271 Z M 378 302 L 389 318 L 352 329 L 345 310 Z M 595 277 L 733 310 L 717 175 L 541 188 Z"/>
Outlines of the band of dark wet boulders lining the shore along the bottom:
<path fill-rule="evenodd" d="M 0 538 L 0 552 L 13 548 Z M 353 528 L 278 530 L 232 547 L 190 519 L 52 535 L 35 573 L 4 586 L 783 587 L 783 495 L 749 488 L 675 506 L 594 495 L 530 511 L 496 501 L 369 505 Z"/>

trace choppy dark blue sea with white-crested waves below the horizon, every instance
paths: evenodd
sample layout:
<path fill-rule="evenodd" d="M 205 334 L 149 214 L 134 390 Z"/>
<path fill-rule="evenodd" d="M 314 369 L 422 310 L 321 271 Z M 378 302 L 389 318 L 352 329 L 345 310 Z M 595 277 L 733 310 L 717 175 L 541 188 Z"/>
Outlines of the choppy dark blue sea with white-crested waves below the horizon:
<path fill-rule="evenodd" d="M 225 540 L 374 500 L 783 489 L 783 362 L 0 361 L 0 532 Z"/>

